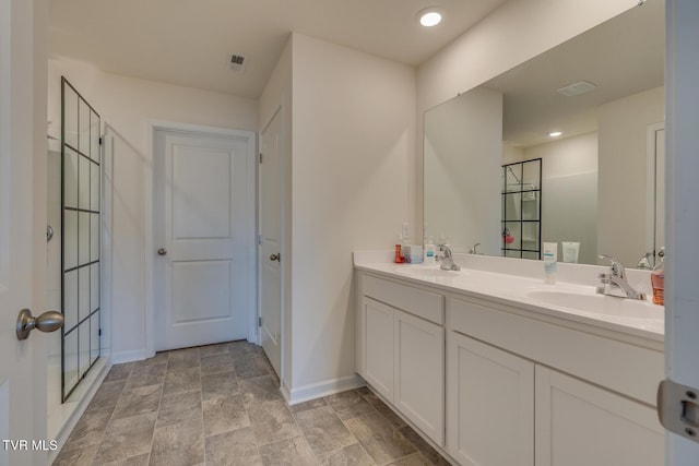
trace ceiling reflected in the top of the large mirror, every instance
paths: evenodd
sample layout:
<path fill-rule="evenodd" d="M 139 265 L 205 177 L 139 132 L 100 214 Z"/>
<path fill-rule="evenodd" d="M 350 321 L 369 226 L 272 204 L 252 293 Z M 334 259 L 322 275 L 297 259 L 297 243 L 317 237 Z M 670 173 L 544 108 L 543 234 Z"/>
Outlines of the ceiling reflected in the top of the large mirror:
<path fill-rule="evenodd" d="M 597 107 L 662 86 L 665 2 L 648 0 L 625 13 L 493 79 L 503 93 L 502 138 L 514 146 L 550 142 L 597 130 Z M 573 97 L 556 92 L 578 81 L 597 88 Z"/>

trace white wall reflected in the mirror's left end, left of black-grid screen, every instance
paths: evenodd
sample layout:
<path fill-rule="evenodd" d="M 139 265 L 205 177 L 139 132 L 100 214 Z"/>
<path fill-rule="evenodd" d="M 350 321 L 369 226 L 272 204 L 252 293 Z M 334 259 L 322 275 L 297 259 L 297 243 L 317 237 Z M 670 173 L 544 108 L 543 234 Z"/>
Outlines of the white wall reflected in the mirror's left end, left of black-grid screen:
<path fill-rule="evenodd" d="M 479 242 L 500 254 L 501 128 L 502 94 L 484 87 L 425 116 L 425 235 L 443 234 L 455 252 Z"/>

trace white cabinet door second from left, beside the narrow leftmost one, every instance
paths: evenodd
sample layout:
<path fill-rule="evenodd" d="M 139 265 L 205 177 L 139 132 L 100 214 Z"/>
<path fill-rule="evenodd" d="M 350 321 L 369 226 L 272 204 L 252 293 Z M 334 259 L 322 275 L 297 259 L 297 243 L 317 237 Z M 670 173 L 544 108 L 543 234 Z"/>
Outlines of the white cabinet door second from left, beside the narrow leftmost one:
<path fill-rule="evenodd" d="M 393 404 L 439 445 L 445 442 L 445 328 L 395 311 Z"/>

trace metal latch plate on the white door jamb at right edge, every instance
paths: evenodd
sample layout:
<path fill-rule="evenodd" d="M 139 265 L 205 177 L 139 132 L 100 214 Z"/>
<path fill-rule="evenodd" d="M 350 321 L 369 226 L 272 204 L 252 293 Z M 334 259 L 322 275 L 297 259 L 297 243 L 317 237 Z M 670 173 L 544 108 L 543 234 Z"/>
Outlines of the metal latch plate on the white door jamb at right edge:
<path fill-rule="evenodd" d="M 671 432 L 699 443 L 699 390 L 666 379 L 657 387 L 657 417 Z"/>

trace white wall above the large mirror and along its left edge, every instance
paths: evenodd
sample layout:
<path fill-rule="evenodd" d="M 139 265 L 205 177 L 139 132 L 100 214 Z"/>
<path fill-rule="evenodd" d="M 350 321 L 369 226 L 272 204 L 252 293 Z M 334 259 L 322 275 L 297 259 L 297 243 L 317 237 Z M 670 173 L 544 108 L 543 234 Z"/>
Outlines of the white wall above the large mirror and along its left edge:
<path fill-rule="evenodd" d="M 427 109 L 637 4 L 636 0 L 509 1 L 422 64 L 417 72 L 418 215 L 423 212 L 423 113 Z M 418 225 L 422 223 L 419 217 Z"/>

